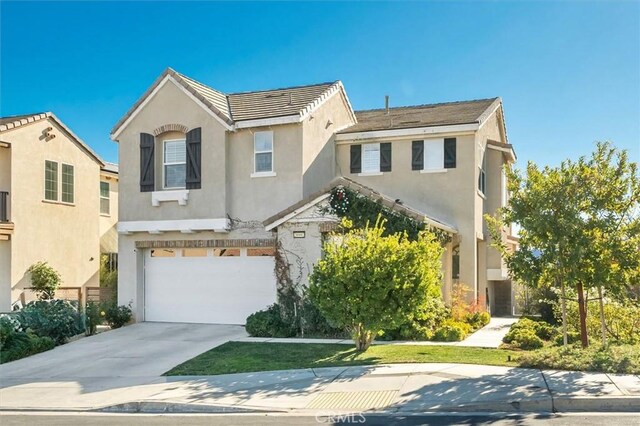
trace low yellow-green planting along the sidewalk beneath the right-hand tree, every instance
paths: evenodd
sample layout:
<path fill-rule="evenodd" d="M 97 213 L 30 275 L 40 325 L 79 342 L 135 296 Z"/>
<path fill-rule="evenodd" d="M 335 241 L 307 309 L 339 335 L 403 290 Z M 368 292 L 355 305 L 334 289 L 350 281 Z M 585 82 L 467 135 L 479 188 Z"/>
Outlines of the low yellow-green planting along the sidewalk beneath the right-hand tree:
<path fill-rule="evenodd" d="M 547 347 L 523 354 L 519 362 L 521 367 L 529 368 L 640 374 L 637 345 Z"/>

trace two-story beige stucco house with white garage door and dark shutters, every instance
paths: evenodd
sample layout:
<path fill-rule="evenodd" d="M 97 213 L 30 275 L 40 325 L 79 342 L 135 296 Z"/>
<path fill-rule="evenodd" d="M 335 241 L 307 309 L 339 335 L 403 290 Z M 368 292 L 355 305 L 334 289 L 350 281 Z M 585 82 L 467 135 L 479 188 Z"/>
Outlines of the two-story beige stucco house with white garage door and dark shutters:
<path fill-rule="evenodd" d="M 119 303 L 138 321 L 242 324 L 276 301 L 283 264 L 305 285 L 336 185 L 449 233 L 445 299 L 464 282 L 510 313 L 482 217 L 506 202 L 515 160 L 499 98 L 354 113 L 339 81 L 224 94 L 167 69 L 111 138 Z"/>

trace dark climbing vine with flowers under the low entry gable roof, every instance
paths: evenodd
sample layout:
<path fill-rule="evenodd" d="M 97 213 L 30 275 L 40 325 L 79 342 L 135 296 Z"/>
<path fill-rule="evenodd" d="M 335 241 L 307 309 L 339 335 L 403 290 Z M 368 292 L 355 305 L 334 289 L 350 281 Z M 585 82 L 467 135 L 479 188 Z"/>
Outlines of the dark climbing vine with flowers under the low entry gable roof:
<path fill-rule="evenodd" d="M 357 191 L 343 186 L 338 186 L 331 190 L 329 207 L 325 209 L 325 213 L 347 218 L 356 228 L 364 228 L 367 223 L 376 223 L 380 215 L 386 220 L 384 235 L 406 232 L 410 240 L 415 240 L 418 238 L 420 231 L 428 229 L 436 235 L 442 244 L 451 240 L 449 233 L 396 212 L 379 201 L 374 201 Z"/>

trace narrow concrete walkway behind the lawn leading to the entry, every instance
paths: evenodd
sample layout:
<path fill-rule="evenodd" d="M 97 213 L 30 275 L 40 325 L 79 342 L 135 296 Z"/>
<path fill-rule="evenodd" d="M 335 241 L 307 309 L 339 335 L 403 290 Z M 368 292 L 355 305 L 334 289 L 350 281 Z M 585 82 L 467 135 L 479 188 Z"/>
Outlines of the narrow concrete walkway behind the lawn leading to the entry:
<path fill-rule="evenodd" d="M 516 317 L 493 317 L 489 324 L 468 336 L 460 342 L 431 342 L 431 341 L 381 341 L 376 340 L 374 345 L 418 345 L 418 346 L 466 346 L 475 348 L 497 348 L 502 343 L 502 338 L 509 331 L 513 323 L 518 321 Z M 353 345 L 351 339 L 301 339 L 295 337 L 274 338 L 274 337 L 242 337 L 235 339 L 236 342 L 259 342 L 259 343 L 335 343 Z"/>

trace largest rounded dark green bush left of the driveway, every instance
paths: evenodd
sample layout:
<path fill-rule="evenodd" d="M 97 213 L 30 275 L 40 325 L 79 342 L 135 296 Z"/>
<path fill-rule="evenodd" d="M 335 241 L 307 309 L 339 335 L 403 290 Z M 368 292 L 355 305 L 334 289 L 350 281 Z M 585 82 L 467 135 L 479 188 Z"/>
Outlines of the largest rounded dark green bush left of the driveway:
<path fill-rule="evenodd" d="M 83 315 L 66 300 L 31 302 L 17 317 L 23 329 L 29 329 L 40 337 L 50 337 L 58 345 L 84 331 Z"/>

